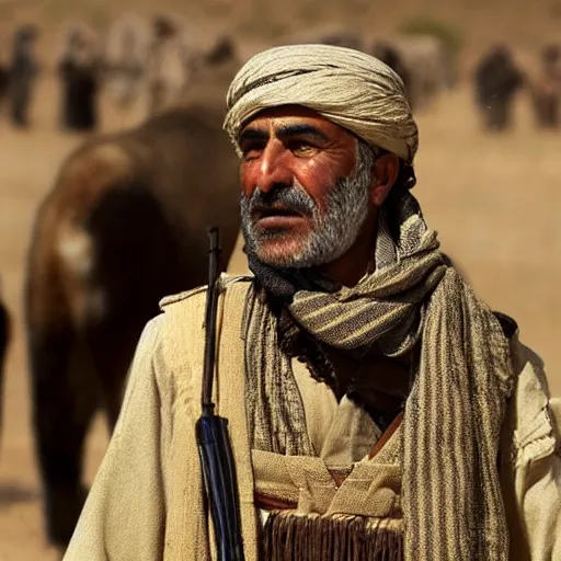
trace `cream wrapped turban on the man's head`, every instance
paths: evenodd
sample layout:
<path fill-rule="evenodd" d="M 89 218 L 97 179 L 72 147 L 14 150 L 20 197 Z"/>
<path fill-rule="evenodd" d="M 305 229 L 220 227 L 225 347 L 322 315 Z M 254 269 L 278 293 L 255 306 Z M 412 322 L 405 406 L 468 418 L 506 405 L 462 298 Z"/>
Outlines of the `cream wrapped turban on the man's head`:
<path fill-rule="evenodd" d="M 237 144 L 252 116 L 279 105 L 309 107 L 408 163 L 419 146 L 401 78 L 358 50 L 290 45 L 255 55 L 228 90 L 224 128 Z"/>

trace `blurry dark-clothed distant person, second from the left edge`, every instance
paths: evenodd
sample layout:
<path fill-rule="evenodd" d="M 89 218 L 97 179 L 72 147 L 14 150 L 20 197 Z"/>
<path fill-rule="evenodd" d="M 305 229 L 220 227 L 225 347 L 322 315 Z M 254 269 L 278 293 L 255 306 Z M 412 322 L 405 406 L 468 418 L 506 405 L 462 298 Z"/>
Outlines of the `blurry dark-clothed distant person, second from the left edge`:
<path fill-rule="evenodd" d="M 61 84 L 61 125 L 68 130 L 94 130 L 98 126 L 100 59 L 93 33 L 73 26 L 65 39 L 58 65 Z"/>

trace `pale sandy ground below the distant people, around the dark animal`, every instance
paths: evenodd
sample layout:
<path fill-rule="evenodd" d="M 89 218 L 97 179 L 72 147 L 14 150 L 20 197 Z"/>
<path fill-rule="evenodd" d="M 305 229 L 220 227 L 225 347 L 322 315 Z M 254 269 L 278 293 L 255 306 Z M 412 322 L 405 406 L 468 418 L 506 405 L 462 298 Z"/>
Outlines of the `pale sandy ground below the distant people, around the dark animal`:
<path fill-rule="evenodd" d="M 10 350 L 0 458 L 0 561 L 54 560 L 41 520 L 27 396 L 22 328 L 22 280 L 32 220 L 57 168 L 81 137 L 56 130 L 57 91 L 44 82 L 32 131 L 0 121 L 0 274 L 15 317 Z M 445 250 L 495 309 L 518 321 L 520 336 L 546 360 L 552 392 L 561 393 L 561 131 L 538 133 L 526 101 L 517 126 L 504 135 L 482 135 L 469 91 L 443 98 L 419 117 L 416 162 L 420 198 Z M 130 125 L 129 115 L 104 112 L 104 129 Z M 244 261 L 237 255 L 232 270 Z M 106 445 L 99 420 L 88 447 L 91 480 Z"/>

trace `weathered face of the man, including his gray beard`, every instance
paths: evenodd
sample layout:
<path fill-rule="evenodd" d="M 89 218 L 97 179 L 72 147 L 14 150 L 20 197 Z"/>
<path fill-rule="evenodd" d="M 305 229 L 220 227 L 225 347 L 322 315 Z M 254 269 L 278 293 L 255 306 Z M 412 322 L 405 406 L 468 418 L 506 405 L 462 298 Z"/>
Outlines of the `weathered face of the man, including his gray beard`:
<path fill-rule="evenodd" d="M 308 267 L 350 249 L 368 214 L 373 163 L 354 136 L 293 106 L 260 113 L 239 144 L 250 251 L 273 266 Z"/>

